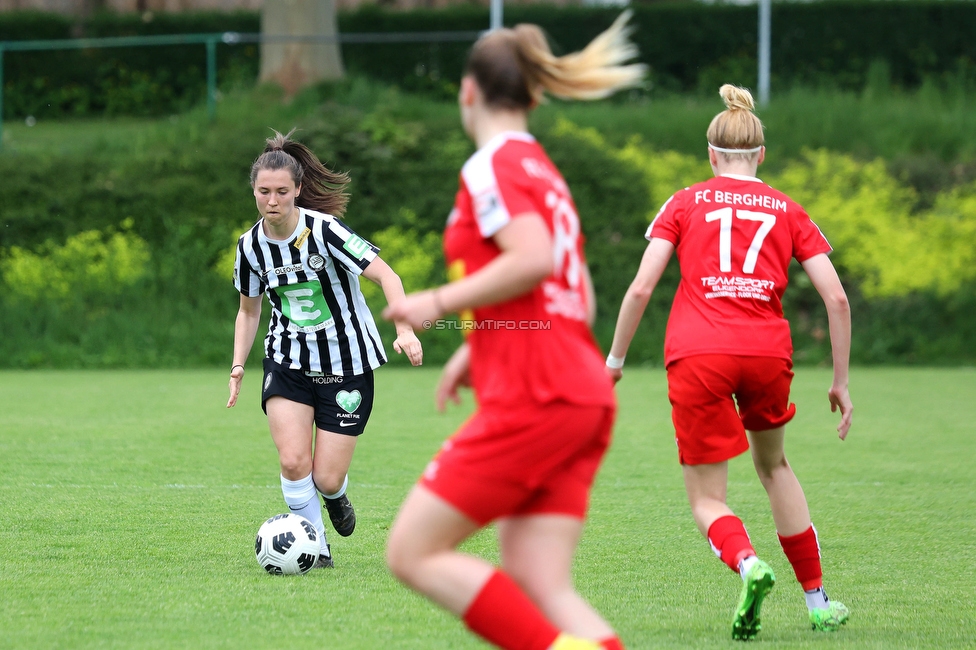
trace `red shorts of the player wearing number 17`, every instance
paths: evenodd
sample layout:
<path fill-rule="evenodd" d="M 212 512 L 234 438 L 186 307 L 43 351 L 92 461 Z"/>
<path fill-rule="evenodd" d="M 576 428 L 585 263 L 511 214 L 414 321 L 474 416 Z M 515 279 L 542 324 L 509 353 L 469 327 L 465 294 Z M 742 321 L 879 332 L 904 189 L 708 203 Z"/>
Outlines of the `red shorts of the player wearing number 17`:
<path fill-rule="evenodd" d="M 668 399 L 681 464 L 734 458 L 749 449 L 746 430 L 766 431 L 792 420 L 792 367 L 789 359 L 730 354 L 701 354 L 670 364 Z"/>

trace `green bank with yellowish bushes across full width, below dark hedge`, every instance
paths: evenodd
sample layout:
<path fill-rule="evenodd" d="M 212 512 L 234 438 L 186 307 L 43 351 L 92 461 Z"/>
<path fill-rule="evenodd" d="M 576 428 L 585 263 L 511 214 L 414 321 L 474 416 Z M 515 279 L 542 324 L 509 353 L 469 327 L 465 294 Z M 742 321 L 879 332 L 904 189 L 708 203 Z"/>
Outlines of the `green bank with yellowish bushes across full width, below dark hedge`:
<path fill-rule="evenodd" d="M 973 164 L 958 145 L 918 152 L 908 134 L 926 120 L 953 123 L 962 140 L 976 127 L 953 95 L 875 94 L 797 90 L 776 99 L 763 112 L 770 162 L 761 176 L 804 204 L 836 248 L 853 302 L 856 362 L 973 363 Z M 703 134 L 720 109 L 717 97 L 684 97 L 553 102 L 533 115 L 532 130 L 579 208 L 603 345 L 650 218 L 672 192 L 711 175 Z M 833 130 L 812 118 L 805 125 L 814 114 Z M 872 122 L 885 129 L 866 138 Z M 229 363 L 237 306 L 229 260 L 256 218 L 248 169 L 269 128 L 292 126 L 350 172 L 347 222 L 383 248 L 407 289 L 443 282 L 439 234 L 473 150 L 452 102 L 354 78 L 290 103 L 273 88 L 233 95 L 214 123 L 197 109 L 161 120 L 10 125 L 0 175 L 16 200 L 0 212 L 0 365 Z M 830 146 L 844 132 L 849 148 Z M 822 303 L 799 267 L 792 277 L 785 308 L 796 359 L 825 362 Z M 672 263 L 631 363 L 661 362 L 676 282 Z M 382 297 L 366 290 L 378 310 Z M 424 340 L 431 363 L 458 343 L 449 331 Z"/>

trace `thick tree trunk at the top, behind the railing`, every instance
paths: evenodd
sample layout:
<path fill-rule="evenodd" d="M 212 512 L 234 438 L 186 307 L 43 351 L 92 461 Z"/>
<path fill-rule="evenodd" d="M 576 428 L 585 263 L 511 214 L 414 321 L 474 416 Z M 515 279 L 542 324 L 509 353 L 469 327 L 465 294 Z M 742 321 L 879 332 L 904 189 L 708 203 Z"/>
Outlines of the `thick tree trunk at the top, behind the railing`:
<path fill-rule="evenodd" d="M 264 36 L 337 38 L 334 0 L 265 0 L 261 11 Z M 342 52 L 338 40 L 271 41 L 261 44 L 260 81 L 276 83 L 293 96 L 319 81 L 341 79 Z"/>

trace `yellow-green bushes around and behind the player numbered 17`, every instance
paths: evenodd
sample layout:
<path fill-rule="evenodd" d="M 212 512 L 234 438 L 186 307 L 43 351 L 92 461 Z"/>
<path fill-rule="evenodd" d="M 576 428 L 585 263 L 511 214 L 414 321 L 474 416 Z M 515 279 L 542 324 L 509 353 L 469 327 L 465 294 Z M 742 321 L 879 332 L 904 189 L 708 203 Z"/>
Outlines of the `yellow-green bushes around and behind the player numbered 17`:
<path fill-rule="evenodd" d="M 704 157 L 659 152 L 636 137 L 615 147 L 596 130 L 566 121 L 543 139 L 580 205 L 598 291 L 596 331 L 609 345 L 623 292 L 640 264 L 647 224 L 674 191 L 712 172 Z M 834 246 L 832 259 L 854 303 L 855 359 L 972 360 L 976 328 L 966 314 L 976 284 L 976 185 L 939 193 L 932 208 L 919 209 L 915 190 L 893 178 L 883 161 L 862 163 L 825 150 L 807 151 L 761 175 L 803 205 Z M 784 309 L 793 325 L 795 358 L 827 360 L 823 303 L 794 267 Z M 628 354 L 632 362 L 660 363 L 678 277 L 672 262 Z M 882 314 L 897 316 L 889 322 Z"/>

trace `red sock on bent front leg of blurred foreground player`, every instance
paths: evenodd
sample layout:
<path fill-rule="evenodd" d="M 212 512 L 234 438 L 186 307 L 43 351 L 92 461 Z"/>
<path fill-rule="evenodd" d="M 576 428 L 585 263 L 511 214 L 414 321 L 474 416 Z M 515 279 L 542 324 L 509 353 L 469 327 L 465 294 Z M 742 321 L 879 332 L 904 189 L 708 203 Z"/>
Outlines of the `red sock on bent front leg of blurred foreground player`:
<path fill-rule="evenodd" d="M 504 650 L 547 650 L 559 630 L 501 571 L 495 571 L 464 612 L 464 624 Z"/>

